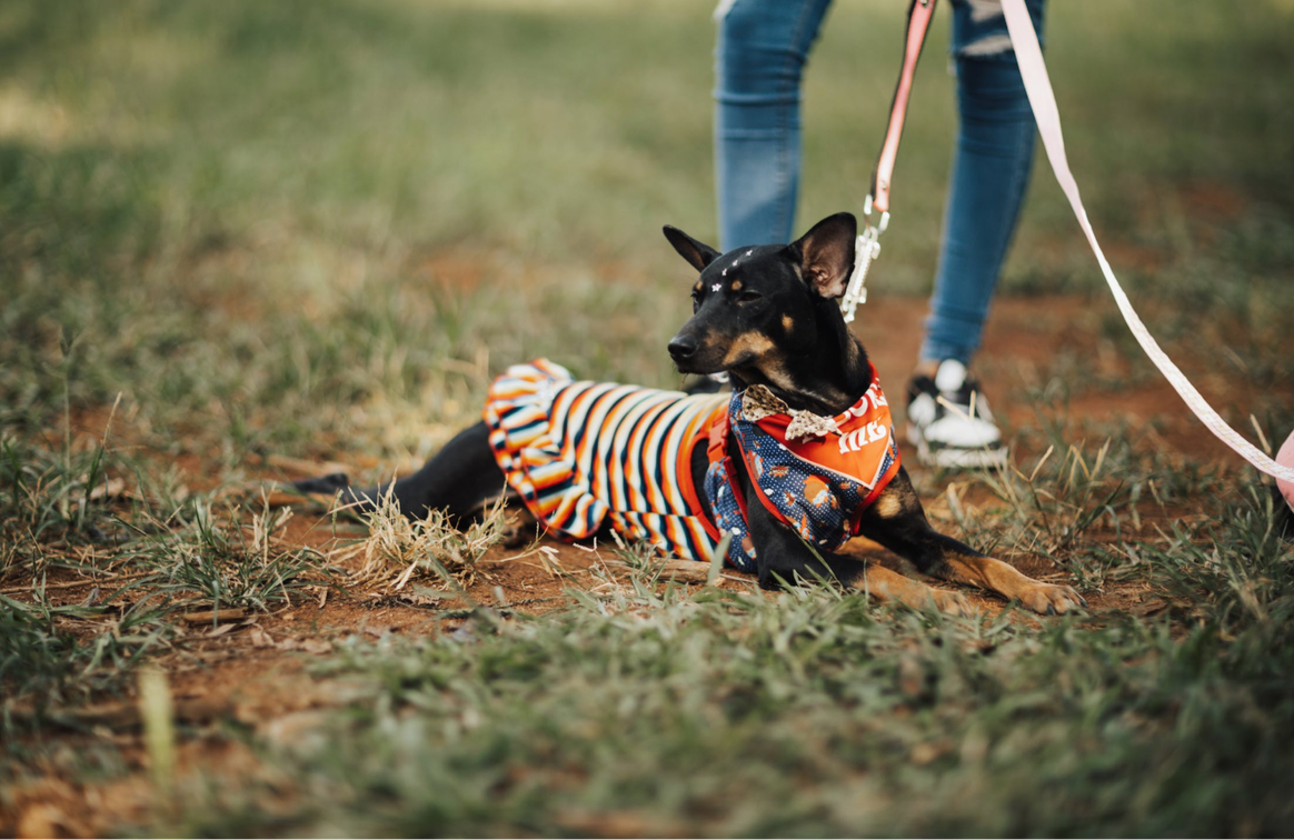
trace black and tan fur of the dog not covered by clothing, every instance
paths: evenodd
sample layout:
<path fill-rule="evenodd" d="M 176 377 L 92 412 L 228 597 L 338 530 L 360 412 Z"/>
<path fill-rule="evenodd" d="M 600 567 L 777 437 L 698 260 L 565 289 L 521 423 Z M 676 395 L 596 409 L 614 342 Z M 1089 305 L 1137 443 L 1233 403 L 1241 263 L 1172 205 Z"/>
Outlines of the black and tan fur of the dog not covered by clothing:
<path fill-rule="evenodd" d="M 734 390 L 762 386 L 761 393 L 771 393 L 788 410 L 806 417 L 831 418 L 849 412 L 873 379 L 863 346 L 849 331 L 836 303 L 854 263 L 855 224 L 851 215 L 837 214 L 789 246 L 741 249 L 727 255 L 666 227 L 665 237 L 700 272 L 692 287 L 694 315 L 669 342 L 679 371 L 727 371 Z M 424 515 L 432 507 L 450 516 L 470 516 L 501 494 L 516 496 L 499 470 L 497 440 L 492 440 L 490 431 L 487 423 L 477 423 L 459 432 L 422 470 L 389 485 L 357 491 L 348 487 L 345 476 L 335 475 L 300 481 L 298 488 L 340 491 L 347 501 L 360 505 L 389 493 L 409 516 Z M 827 577 L 911 606 L 933 603 L 954 613 L 969 610 L 958 593 L 810 547 L 804 533 L 788 527 L 769 509 L 766 498 L 761 500 L 763 493 L 751 476 L 752 462 L 739 457 L 738 444 L 729 440 L 726 445 L 734 449 L 731 487 L 735 494 L 744 496 L 743 515 L 753 541 L 749 554 L 761 585 Z M 691 472 L 685 478 L 691 479 L 691 487 L 704 487 L 714 447 L 710 449 L 708 456 L 705 445 L 692 445 L 685 454 Z M 700 506 L 707 507 L 704 502 Z M 713 511 L 697 510 L 695 515 L 707 518 L 708 528 L 714 531 Z M 1086 606 L 1070 586 L 1033 580 L 934 531 L 901 466 L 884 489 L 859 509 L 853 533 L 907 558 L 924 575 L 1018 599 L 1036 612 Z"/>

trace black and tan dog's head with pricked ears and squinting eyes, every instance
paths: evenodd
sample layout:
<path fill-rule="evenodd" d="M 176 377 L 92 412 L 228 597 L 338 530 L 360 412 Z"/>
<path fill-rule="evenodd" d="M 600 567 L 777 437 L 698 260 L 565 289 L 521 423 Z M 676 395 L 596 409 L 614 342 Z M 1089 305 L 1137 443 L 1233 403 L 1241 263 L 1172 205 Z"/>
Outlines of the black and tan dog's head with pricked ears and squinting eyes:
<path fill-rule="evenodd" d="M 823 329 L 844 330 L 832 302 L 849 283 L 857 232 L 851 214 L 836 214 L 791 245 L 721 255 L 666 225 L 665 238 L 701 273 L 692 286 L 692 317 L 669 342 L 678 370 L 749 370 L 776 382 L 788 359 L 818 346 Z"/>

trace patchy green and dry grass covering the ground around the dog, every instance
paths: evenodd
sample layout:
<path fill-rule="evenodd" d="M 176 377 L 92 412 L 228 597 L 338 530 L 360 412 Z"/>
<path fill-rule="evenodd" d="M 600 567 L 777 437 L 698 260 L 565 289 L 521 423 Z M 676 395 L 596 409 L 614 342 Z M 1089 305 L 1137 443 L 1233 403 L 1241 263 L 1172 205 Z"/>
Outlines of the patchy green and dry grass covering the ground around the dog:
<path fill-rule="evenodd" d="M 1229 419 L 1272 437 L 1294 427 L 1294 9 L 1148 4 L 1049 9 L 1070 160 L 1154 334 L 1234 395 Z M 357 480 L 384 480 L 472 422 L 492 373 L 538 355 L 678 384 L 660 351 L 688 278 L 657 230 L 714 238 L 707 14 L 0 5 L 0 822 L 34 778 L 132 777 L 132 746 L 56 718 L 132 702 L 142 663 L 188 656 L 184 612 L 268 621 L 321 589 L 405 580 L 408 601 L 467 630 L 338 630 L 314 678 L 352 681 L 357 702 L 309 738 L 181 727 L 181 764 L 215 739 L 259 770 L 212 762 L 113 828 L 1290 832 L 1280 511 L 1267 485 L 1172 437 L 1175 406 L 1091 408 L 1135 404 L 1157 374 L 1046 168 L 1003 289 L 1040 307 L 1078 295 L 1074 329 L 1095 346 L 1020 351 L 1036 415 L 1013 421 L 1018 472 L 915 478 L 941 525 L 1108 610 L 963 621 L 820 588 L 670 588 L 639 546 L 555 613 L 439 610 L 484 579 L 501 516 L 458 535 L 387 511 L 343 549 L 367 551 L 356 579 L 247 492 L 274 457 L 355 457 Z M 861 206 L 901 14 L 832 10 L 806 83 L 802 224 Z M 873 294 L 924 294 L 933 274 L 946 30 L 941 13 Z"/>

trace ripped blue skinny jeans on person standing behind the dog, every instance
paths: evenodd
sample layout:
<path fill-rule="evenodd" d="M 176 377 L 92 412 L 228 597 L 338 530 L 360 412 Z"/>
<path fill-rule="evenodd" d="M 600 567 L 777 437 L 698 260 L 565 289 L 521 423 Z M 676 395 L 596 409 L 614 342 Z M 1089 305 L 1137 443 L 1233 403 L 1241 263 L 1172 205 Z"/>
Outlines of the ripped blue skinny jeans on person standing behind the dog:
<path fill-rule="evenodd" d="M 1026 4 L 1040 38 L 1044 0 Z M 791 241 L 800 189 L 800 79 L 829 5 L 736 0 L 721 6 L 714 159 L 725 250 Z M 895 43 L 899 36 L 895 31 Z M 921 359 L 969 362 L 1029 181 L 1034 116 L 1000 6 L 994 14 L 990 3 L 952 0 L 951 52 L 960 119 Z"/>

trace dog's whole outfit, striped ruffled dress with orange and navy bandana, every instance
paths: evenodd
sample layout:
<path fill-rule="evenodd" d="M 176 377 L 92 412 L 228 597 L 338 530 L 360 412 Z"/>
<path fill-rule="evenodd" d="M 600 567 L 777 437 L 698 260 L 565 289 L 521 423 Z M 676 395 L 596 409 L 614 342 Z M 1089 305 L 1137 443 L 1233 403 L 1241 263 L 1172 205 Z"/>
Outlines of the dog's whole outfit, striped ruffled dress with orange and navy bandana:
<path fill-rule="evenodd" d="M 726 559 L 754 571 L 745 500 L 732 492 L 730 435 L 761 503 L 811 545 L 839 547 L 898 472 L 872 373 L 858 403 L 822 418 L 789 412 L 760 387 L 729 399 L 577 382 L 540 359 L 496 379 L 481 417 L 509 487 L 549 531 L 584 538 L 609 523 L 628 540 L 692 560 L 709 560 L 731 533 Z M 691 471 L 699 445 L 710 461 L 703 488 Z"/>

